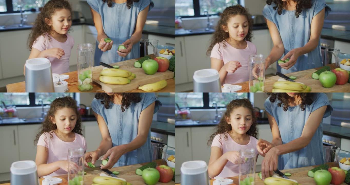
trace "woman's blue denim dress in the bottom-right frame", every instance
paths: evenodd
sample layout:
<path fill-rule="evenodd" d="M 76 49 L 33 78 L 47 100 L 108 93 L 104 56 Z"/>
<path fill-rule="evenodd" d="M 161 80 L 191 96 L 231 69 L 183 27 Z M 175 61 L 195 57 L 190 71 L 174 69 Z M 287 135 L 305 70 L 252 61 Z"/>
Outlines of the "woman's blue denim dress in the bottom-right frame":
<path fill-rule="evenodd" d="M 283 144 L 289 143 L 301 136 L 307 119 L 311 112 L 316 109 L 327 105 L 328 107 L 324 112 L 323 118 L 330 116 L 333 108 L 328 102 L 327 95 L 324 93 L 314 93 L 313 100 L 313 103 L 305 107 L 304 111 L 301 110 L 299 105 L 289 107 L 287 111 L 284 111 L 283 107 L 278 107 L 277 105 L 280 102 L 279 100 L 276 99 L 275 102 L 272 103 L 269 97 L 266 99 L 264 107 L 268 114 L 275 118 Z M 315 135 L 306 147 L 295 152 L 278 156 L 278 169 L 283 170 L 323 164 L 322 132 L 323 128 L 321 122 Z"/>

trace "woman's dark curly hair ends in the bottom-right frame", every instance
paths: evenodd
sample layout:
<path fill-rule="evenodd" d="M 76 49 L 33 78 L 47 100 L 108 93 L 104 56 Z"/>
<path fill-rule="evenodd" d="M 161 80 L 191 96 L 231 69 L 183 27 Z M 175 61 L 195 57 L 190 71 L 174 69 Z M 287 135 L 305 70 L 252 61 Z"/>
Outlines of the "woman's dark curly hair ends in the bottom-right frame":
<path fill-rule="evenodd" d="M 269 100 L 270 102 L 275 102 L 276 99 L 278 99 L 280 102 L 277 104 L 278 107 L 282 107 L 283 104 L 283 110 L 287 111 L 289 107 L 289 101 L 292 97 L 290 97 L 287 93 L 267 93 L 267 95 L 270 96 Z M 305 107 L 307 105 L 311 105 L 314 101 L 314 93 L 298 93 L 298 95 L 301 97 L 301 104 L 299 105 L 301 110 L 304 111 Z"/>

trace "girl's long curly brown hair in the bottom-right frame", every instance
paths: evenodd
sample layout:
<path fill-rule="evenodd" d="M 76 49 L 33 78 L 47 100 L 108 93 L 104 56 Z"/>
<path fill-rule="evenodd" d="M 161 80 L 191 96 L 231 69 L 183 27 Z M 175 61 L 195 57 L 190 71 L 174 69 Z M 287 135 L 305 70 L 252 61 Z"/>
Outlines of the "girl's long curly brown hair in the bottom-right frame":
<path fill-rule="evenodd" d="M 221 118 L 220 123 L 217 125 L 216 131 L 210 136 L 210 139 L 208 141 L 208 145 L 213 141 L 214 137 L 221 133 L 226 133 L 232 130 L 232 126 L 226 122 L 226 117 L 231 117 L 231 113 L 233 110 L 239 107 L 247 108 L 251 111 L 252 114 L 252 125 L 250 126 L 250 129 L 247 131 L 247 134 L 250 136 L 253 136 L 257 138 L 258 135 L 258 126 L 257 126 L 257 119 L 254 116 L 254 109 L 252 103 L 248 99 L 239 99 L 239 100 L 232 100 L 227 106 L 226 106 L 226 112 L 224 116 Z M 225 135 L 225 140 L 228 138 L 228 136 Z"/>

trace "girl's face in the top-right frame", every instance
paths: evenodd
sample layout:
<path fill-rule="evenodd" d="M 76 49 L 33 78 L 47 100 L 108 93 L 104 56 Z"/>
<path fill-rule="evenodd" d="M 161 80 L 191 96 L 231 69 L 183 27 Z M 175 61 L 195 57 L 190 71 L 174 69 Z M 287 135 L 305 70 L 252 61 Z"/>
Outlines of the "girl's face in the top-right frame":
<path fill-rule="evenodd" d="M 232 16 L 227 22 L 227 26 L 223 26 L 225 32 L 228 32 L 231 39 L 242 41 L 248 34 L 248 19 L 244 15 Z"/>

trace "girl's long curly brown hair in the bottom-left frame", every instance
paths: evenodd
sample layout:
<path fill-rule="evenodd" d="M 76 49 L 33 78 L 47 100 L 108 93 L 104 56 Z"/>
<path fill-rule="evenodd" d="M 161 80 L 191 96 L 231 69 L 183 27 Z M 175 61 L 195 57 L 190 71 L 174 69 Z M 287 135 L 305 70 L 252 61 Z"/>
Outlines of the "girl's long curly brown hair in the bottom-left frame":
<path fill-rule="evenodd" d="M 44 132 L 50 132 L 51 139 L 54 137 L 52 135 L 52 131 L 57 129 L 57 125 L 52 123 L 51 117 L 55 117 L 57 110 L 62 109 L 62 108 L 71 108 L 74 110 L 75 114 L 77 115 L 77 122 L 76 122 L 75 127 L 72 130 L 72 132 L 83 135 L 83 133 L 82 133 L 82 117 L 79 114 L 77 102 L 72 97 L 66 96 L 66 97 L 56 98 L 51 103 L 50 109 L 47 112 L 47 116 L 45 117 L 45 120 L 39 129 L 41 131 L 35 137 L 34 144 L 36 144 L 36 142 L 39 140 L 40 136 Z"/>

